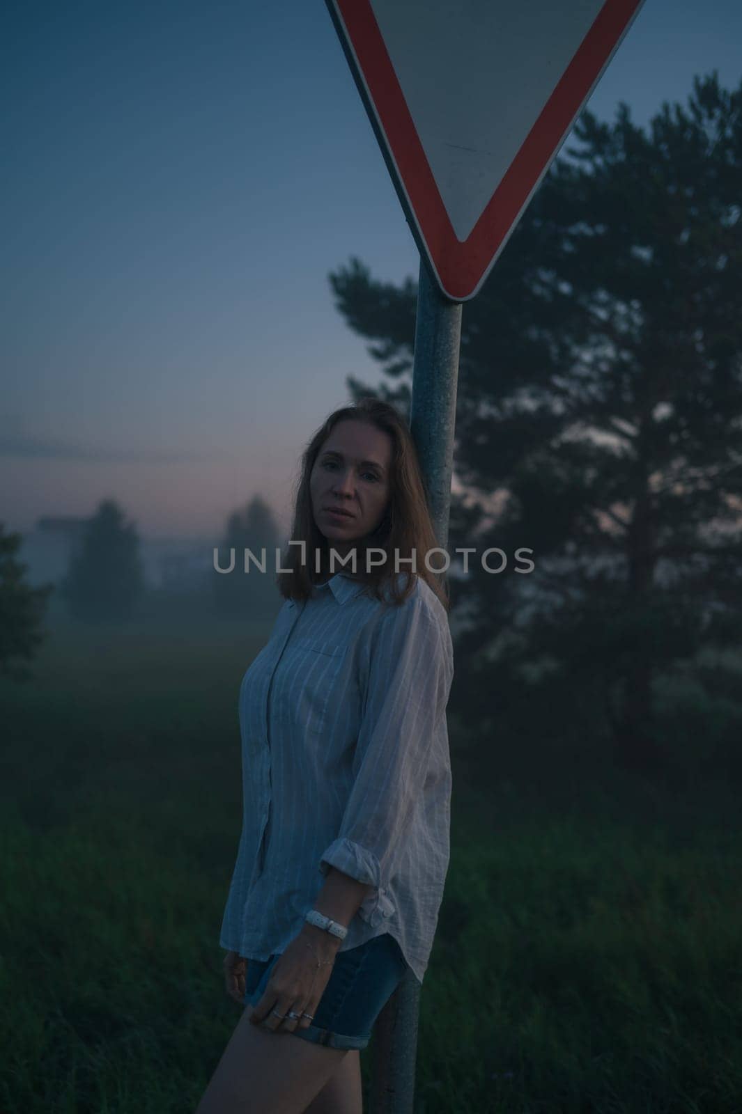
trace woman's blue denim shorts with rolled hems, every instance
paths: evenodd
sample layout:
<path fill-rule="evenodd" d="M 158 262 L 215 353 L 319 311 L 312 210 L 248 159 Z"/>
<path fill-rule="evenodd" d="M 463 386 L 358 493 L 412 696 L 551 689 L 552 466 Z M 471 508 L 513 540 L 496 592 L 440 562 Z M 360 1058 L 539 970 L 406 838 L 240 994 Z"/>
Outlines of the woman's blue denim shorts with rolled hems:
<path fill-rule="evenodd" d="M 250 959 L 245 976 L 245 1006 L 256 1006 L 263 997 L 279 958 Z M 387 1005 L 408 969 L 397 940 L 383 932 L 372 940 L 338 951 L 332 975 L 305 1028 L 284 1029 L 304 1040 L 331 1048 L 365 1048 L 377 1017 Z"/>

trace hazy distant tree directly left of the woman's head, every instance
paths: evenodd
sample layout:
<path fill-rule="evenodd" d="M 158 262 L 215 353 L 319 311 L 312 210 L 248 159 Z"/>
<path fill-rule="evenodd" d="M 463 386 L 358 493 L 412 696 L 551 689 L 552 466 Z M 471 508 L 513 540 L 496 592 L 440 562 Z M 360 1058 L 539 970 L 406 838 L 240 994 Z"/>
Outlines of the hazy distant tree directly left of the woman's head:
<path fill-rule="evenodd" d="M 254 496 L 242 509 L 227 519 L 223 540 L 218 546 L 218 564 L 228 568 L 234 549 L 234 569 L 213 573 L 214 602 L 219 615 L 230 618 L 263 617 L 275 600 L 275 550 L 280 547 L 279 528 L 270 506 Z M 245 549 L 251 549 L 255 560 L 265 548 L 265 573 L 251 560 L 245 573 Z"/>

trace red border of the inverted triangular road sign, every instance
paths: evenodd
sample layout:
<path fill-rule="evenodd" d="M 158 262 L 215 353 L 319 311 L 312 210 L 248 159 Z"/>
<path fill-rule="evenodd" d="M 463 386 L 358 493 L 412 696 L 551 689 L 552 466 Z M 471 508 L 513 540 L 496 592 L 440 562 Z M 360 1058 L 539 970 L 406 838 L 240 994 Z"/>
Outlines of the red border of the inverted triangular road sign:
<path fill-rule="evenodd" d="M 370 0 L 335 0 L 420 236 L 449 297 L 462 301 L 476 290 L 642 2 L 606 0 L 481 216 L 467 240 L 460 241 L 446 212 Z"/>

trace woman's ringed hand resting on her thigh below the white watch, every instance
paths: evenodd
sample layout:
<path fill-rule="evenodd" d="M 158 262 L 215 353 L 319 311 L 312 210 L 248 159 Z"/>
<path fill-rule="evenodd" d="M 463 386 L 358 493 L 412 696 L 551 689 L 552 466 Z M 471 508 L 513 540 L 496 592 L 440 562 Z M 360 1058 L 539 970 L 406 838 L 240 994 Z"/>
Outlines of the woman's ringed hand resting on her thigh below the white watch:
<path fill-rule="evenodd" d="M 302 929 L 276 959 L 265 993 L 250 1018 L 253 1025 L 263 1024 L 263 1028 L 274 1033 L 293 1033 L 312 1024 L 309 1017 L 287 1017 L 283 1020 L 289 1010 L 313 1016 L 332 975 L 340 941 L 322 929 L 313 929 L 312 932 L 321 932 L 324 939 L 314 935 L 309 939 L 307 930 Z M 321 960 L 320 967 L 318 959 Z"/>

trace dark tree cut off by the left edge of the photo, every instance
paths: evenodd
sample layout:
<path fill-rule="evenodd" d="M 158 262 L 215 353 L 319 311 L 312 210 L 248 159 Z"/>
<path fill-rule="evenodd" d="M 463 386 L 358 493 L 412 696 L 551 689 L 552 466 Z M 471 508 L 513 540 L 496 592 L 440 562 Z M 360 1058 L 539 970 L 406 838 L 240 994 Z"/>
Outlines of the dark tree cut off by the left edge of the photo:
<path fill-rule="evenodd" d="M 17 559 L 22 536 L 7 534 L 0 522 L 0 674 L 28 681 L 33 674 L 18 658 L 30 661 L 46 637 L 40 628 L 53 584 L 31 588 L 28 566 Z"/>

